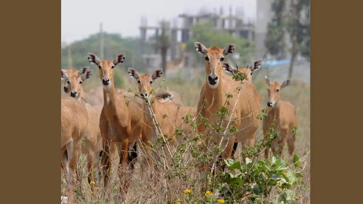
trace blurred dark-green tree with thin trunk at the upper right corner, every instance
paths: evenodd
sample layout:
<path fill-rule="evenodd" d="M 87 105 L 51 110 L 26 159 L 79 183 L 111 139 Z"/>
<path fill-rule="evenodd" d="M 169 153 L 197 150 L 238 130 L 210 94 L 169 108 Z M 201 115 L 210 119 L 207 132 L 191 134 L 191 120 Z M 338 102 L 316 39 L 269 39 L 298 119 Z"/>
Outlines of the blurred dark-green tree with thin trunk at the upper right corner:
<path fill-rule="evenodd" d="M 271 9 L 274 17 L 268 24 L 266 53 L 272 54 L 278 60 L 284 59 L 287 49 L 285 34 L 289 34 L 291 78 L 293 65 L 299 53 L 310 60 L 310 0 L 290 0 L 289 8 L 286 8 L 285 0 L 274 0 Z"/>

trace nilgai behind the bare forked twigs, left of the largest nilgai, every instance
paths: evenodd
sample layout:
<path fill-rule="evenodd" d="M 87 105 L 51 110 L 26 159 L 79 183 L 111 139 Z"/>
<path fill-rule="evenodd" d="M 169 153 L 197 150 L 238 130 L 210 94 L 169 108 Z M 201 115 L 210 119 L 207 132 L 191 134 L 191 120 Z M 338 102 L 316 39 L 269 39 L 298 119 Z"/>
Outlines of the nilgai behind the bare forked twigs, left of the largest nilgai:
<path fill-rule="evenodd" d="M 155 79 L 162 76 L 163 69 L 155 70 L 155 72 L 152 74 L 152 76 L 148 74 L 142 74 L 139 75 L 139 73 L 132 68 L 129 68 L 129 74 L 132 78 L 136 79 L 138 82 L 138 89 L 141 98 L 149 98 L 152 100 L 152 97 L 156 98 L 155 94 L 151 93 L 152 82 L 155 81 Z M 168 98 L 171 98 L 171 95 L 166 94 L 165 96 Z M 154 103 L 151 104 L 151 107 L 154 111 L 156 120 L 159 123 L 159 127 L 163 132 L 163 135 L 166 139 L 172 138 L 172 144 L 179 144 L 183 137 L 177 138 L 175 136 L 175 129 L 177 128 L 183 128 L 184 132 L 187 134 L 187 132 L 190 131 L 189 124 L 185 124 L 183 122 L 182 117 L 185 117 L 188 113 L 191 113 L 193 116 L 196 114 L 196 108 L 195 107 L 188 107 L 188 106 L 179 106 L 176 105 L 173 102 L 170 101 L 162 101 L 162 100 L 155 100 Z M 144 105 L 144 109 L 146 113 L 149 113 L 147 110 L 147 106 Z M 164 115 L 167 115 L 167 117 L 164 117 Z M 147 122 L 148 127 L 153 127 L 152 120 L 150 119 L 150 116 L 148 114 L 145 114 L 145 120 Z M 154 134 L 154 131 L 146 130 L 147 132 L 147 138 L 149 141 L 156 141 L 157 135 Z"/>

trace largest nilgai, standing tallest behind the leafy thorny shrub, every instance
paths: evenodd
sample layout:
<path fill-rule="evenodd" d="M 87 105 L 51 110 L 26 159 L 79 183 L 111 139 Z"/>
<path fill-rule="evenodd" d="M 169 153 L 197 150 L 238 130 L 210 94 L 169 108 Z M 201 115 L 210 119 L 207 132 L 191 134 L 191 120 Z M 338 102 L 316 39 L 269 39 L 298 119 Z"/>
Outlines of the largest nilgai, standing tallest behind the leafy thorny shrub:
<path fill-rule="evenodd" d="M 261 98 L 253 84 L 245 81 L 242 86 L 240 98 L 237 101 L 236 88 L 240 86 L 240 82 L 234 81 L 231 76 L 224 73 L 227 72 L 235 74 L 237 69 L 234 69 L 230 64 L 223 62 L 224 58 L 234 51 L 236 47 L 235 44 L 229 44 L 225 46 L 224 49 L 220 49 L 217 46 L 212 46 L 207 49 L 200 42 L 195 42 L 194 45 L 196 51 L 202 54 L 205 58 L 205 72 L 207 74 L 206 81 L 201 87 L 197 112 L 200 112 L 203 117 L 208 118 L 209 123 L 213 125 L 216 122 L 215 114 L 220 107 L 224 106 L 225 101 L 227 100 L 226 94 L 233 94 L 233 97 L 229 99 L 229 105 L 227 105 L 227 108 L 232 114 L 232 120 L 234 119 L 231 121 L 231 124 L 239 128 L 239 131 L 230 137 L 229 141 L 228 139 L 223 139 L 221 143 L 222 147 L 225 147 L 221 157 L 229 158 L 233 156 L 233 146 L 237 146 L 234 145 L 234 143 L 244 143 L 247 139 L 250 139 L 251 143 L 252 141 L 254 143 L 254 132 L 259 126 L 259 121 L 256 117 L 261 109 Z M 262 60 L 254 61 L 249 68 L 251 70 L 257 70 L 260 68 L 261 62 Z M 207 101 L 204 104 L 205 99 Z M 232 109 L 234 104 L 236 104 L 236 101 L 237 105 L 232 113 Z M 224 124 L 225 128 L 227 122 Z M 219 142 L 219 139 L 214 132 L 209 132 L 207 134 L 207 128 L 204 124 L 199 125 L 198 131 L 203 132 L 204 135 L 208 135 L 208 137 L 212 137 L 214 142 Z M 201 177 L 204 176 L 205 170 L 206 167 L 202 167 L 200 169 Z"/>

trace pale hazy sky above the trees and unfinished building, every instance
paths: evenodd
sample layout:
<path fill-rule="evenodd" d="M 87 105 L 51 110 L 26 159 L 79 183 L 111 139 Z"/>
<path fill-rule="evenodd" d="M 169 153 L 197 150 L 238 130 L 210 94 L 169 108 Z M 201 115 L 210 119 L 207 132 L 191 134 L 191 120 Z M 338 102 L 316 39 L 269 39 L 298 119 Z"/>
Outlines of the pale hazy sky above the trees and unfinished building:
<path fill-rule="evenodd" d="M 247 19 L 254 20 L 256 16 L 256 0 L 62 0 L 61 4 L 61 36 L 67 43 L 97 33 L 100 23 L 105 32 L 138 36 L 142 16 L 147 17 L 148 25 L 156 25 L 162 19 L 178 19 L 184 12 L 195 14 L 201 9 L 216 8 L 219 13 L 220 6 L 227 14 L 229 5 L 233 6 L 233 13 L 241 7 Z"/>

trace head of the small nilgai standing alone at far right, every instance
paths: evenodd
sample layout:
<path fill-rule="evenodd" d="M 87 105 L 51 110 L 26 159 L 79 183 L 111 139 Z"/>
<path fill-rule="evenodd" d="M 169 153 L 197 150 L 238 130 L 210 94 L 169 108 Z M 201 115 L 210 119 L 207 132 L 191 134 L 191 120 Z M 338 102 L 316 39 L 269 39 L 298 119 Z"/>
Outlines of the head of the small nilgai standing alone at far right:
<path fill-rule="evenodd" d="M 277 81 L 270 81 L 266 76 L 266 83 L 269 85 L 269 88 L 267 89 L 269 93 L 269 98 L 267 102 L 268 107 L 278 107 L 279 101 L 280 101 L 280 94 L 281 89 L 290 85 L 291 80 L 287 79 L 286 81 L 279 83 Z"/>

